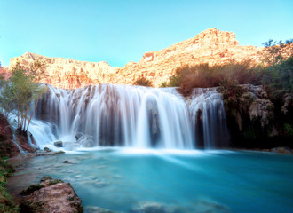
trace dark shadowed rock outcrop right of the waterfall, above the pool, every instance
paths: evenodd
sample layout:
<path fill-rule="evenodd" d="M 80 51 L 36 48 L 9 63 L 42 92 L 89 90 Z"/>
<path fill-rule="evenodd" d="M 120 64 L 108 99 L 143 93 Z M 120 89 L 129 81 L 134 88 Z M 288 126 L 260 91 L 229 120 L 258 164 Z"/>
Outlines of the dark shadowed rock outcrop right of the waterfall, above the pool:
<path fill-rule="evenodd" d="M 266 149 L 292 146 L 293 102 L 289 91 L 276 91 L 274 99 L 263 86 L 251 84 L 219 91 L 223 93 L 231 146 Z"/>

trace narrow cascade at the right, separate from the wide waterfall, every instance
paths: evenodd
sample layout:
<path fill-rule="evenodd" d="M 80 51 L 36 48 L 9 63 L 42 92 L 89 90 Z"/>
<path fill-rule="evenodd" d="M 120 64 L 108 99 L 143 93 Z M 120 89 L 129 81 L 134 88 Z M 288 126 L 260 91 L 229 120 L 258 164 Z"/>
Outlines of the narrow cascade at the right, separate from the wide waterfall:
<path fill-rule="evenodd" d="M 223 99 L 217 88 L 194 88 L 189 106 L 196 147 L 227 147 L 229 133 Z"/>

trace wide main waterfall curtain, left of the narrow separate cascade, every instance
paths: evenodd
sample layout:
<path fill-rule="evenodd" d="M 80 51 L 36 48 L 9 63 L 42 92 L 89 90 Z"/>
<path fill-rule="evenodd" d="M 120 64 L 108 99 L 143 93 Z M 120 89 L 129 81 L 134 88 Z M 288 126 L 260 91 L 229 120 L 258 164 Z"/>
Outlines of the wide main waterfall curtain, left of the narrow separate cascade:
<path fill-rule="evenodd" d="M 42 138 L 47 131 L 40 135 L 30 130 L 38 144 L 58 138 L 77 140 L 85 147 L 194 148 L 188 109 L 175 88 L 109 84 L 71 91 L 48 88 L 37 106 L 35 122 L 51 132 Z"/>

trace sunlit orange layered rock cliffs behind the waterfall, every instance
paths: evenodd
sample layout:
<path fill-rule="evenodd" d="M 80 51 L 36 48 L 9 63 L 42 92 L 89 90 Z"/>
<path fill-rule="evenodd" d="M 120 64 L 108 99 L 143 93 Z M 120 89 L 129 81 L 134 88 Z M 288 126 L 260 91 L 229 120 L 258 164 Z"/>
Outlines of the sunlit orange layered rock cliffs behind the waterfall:
<path fill-rule="evenodd" d="M 49 58 L 27 52 L 12 58 L 10 68 L 17 62 L 28 68 L 36 59 L 42 60 L 46 66 L 40 82 L 64 89 L 96 83 L 132 84 L 140 77 L 146 77 L 154 86 L 159 86 L 182 65 L 222 64 L 231 59 L 258 60 L 257 52 L 260 50 L 261 48 L 253 46 L 238 45 L 234 33 L 209 28 L 162 51 L 147 52 L 138 63 L 129 62 L 124 67 L 111 67 L 104 61 Z"/>

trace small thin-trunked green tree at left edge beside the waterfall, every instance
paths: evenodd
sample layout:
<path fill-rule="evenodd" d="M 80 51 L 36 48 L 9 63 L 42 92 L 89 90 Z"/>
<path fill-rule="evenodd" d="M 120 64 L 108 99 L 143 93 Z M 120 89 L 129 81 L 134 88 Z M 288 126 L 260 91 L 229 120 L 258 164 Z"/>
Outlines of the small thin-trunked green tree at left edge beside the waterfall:
<path fill-rule="evenodd" d="M 12 68 L 12 76 L 5 84 L 4 92 L 1 94 L 1 106 L 11 106 L 5 109 L 6 114 L 9 114 L 12 109 L 16 109 L 18 131 L 22 133 L 28 131 L 38 100 L 46 89 L 46 87 L 34 83 L 34 78 L 25 71 L 24 67 L 16 64 Z"/>

